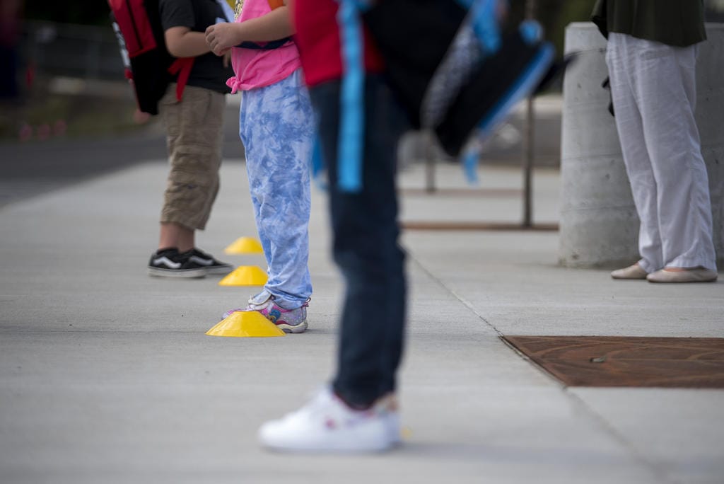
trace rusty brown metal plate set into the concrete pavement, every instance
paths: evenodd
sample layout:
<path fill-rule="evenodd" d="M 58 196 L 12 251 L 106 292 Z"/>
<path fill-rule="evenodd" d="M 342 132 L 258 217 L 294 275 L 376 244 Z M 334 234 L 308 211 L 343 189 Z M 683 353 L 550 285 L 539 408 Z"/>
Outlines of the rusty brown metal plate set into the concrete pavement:
<path fill-rule="evenodd" d="M 568 386 L 724 388 L 724 338 L 503 339 Z"/>

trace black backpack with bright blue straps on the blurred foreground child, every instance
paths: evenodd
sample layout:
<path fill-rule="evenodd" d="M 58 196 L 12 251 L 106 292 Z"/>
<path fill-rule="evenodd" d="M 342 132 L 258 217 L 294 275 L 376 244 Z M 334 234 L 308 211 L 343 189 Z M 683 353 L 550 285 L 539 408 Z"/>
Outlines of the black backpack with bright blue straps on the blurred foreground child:
<path fill-rule="evenodd" d="M 505 0 L 338 0 L 342 43 L 339 185 L 361 189 L 362 28 L 382 55 L 387 81 L 411 127 L 434 133 L 452 157 L 489 136 L 515 103 L 544 88 L 567 62 L 532 21 L 505 28 Z M 411 48 L 409 39 L 415 39 Z M 477 157 L 464 156 L 471 174 Z M 315 160 L 315 171 L 319 170 Z"/>

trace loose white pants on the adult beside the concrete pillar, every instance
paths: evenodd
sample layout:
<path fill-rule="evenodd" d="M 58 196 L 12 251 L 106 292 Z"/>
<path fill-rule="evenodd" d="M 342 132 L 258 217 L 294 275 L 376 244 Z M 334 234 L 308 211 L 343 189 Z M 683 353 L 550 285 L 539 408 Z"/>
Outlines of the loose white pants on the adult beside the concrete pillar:
<path fill-rule="evenodd" d="M 696 46 L 620 33 L 606 62 L 616 128 L 641 219 L 639 264 L 716 270 L 707 168 L 694 121 Z"/>

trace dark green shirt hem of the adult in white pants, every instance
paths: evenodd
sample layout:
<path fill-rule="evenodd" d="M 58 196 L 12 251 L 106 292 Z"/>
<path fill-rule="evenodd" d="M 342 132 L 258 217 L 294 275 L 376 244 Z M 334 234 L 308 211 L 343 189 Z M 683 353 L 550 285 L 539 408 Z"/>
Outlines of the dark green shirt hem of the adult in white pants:
<path fill-rule="evenodd" d="M 677 47 L 707 38 L 702 0 L 596 0 L 591 20 L 606 37 L 626 33 Z"/>

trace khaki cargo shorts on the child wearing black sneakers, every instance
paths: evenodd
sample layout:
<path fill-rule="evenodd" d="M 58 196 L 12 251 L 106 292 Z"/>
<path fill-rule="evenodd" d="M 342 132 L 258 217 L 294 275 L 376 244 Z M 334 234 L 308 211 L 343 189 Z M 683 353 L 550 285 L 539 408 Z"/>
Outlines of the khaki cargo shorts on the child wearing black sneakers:
<path fill-rule="evenodd" d="M 224 94 L 187 85 L 176 100 L 176 84 L 159 101 L 166 125 L 171 170 L 161 223 L 203 230 L 219 192 Z"/>

